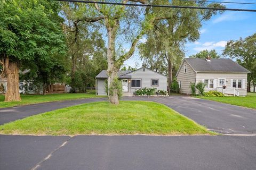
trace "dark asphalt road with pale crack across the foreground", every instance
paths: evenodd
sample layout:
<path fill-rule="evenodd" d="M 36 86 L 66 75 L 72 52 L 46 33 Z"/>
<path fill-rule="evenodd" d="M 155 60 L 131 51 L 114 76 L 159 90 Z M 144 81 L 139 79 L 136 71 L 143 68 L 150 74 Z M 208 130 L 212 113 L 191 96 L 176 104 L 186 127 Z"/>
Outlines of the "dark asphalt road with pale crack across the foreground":
<path fill-rule="evenodd" d="M 0 169 L 5 170 L 252 170 L 256 167 L 255 136 L 0 135 L 0 143 Z"/>

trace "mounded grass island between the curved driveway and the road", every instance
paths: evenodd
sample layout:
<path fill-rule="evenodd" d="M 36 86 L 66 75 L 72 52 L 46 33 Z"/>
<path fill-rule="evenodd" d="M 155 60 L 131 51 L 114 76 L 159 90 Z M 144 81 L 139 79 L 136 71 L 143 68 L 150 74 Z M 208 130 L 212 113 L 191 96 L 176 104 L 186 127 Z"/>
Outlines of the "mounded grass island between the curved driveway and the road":
<path fill-rule="evenodd" d="M 58 109 L 0 126 L 1 134 L 216 134 L 169 107 L 148 101 L 106 101 Z"/>

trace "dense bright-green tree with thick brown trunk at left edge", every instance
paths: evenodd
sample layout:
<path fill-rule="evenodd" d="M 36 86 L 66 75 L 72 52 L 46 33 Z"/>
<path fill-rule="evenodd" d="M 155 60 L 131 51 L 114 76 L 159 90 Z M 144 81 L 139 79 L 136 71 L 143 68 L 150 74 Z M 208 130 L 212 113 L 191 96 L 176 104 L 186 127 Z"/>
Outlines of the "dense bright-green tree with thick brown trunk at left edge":
<path fill-rule="evenodd" d="M 21 100 L 19 69 L 35 59 L 46 62 L 51 56 L 65 55 L 57 2 L 3 0 L 0 2 L 0 56 L 7 77 L 5 101 Z"/>

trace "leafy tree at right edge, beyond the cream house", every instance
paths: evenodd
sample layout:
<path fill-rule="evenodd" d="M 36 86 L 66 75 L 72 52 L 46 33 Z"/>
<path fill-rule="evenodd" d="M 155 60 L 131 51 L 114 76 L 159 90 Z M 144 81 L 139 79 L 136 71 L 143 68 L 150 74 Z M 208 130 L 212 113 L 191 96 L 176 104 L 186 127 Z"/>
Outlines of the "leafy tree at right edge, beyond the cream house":
<path fill-rule="evenodd" d="M 238 64 L 251 71 L 247 77 L 247 91 L 251 91 L 251 83 L 256 79 L 256 33 L 246 38 L 228 41 L 223 52 L 224 56 L 235 58 Z"/>

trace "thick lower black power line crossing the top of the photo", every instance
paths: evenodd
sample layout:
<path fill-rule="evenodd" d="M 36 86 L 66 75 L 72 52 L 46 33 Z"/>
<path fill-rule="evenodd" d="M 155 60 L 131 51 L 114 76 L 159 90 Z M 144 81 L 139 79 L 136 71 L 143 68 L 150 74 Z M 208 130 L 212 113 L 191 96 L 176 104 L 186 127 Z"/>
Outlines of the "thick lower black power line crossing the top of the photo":
<path fill-rule="evenodd" d="M 51 0 L 51 1 L 80 2 L 80 3 L 88 3 L 88 4 L 125 5 L 125 6 L 189 8 L 189 9 L 201 9 L 201 10 L 256 12 L 256 10 L 236 9 L 236 8 L 217 8 L 217 7 L 198 7 L 198 6 L 175 6 L 175 5 L 149 5 L 149 4 L 123 4 L 123 3 L 114 3 L 114 2 L 95 2 L 95 1 L 79 1 L 79 0 Z"/>

